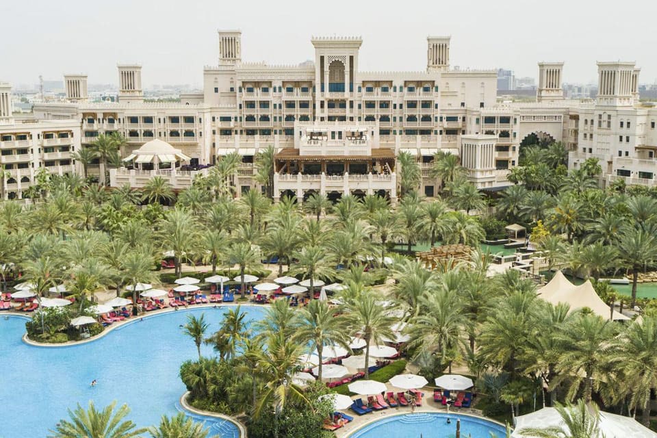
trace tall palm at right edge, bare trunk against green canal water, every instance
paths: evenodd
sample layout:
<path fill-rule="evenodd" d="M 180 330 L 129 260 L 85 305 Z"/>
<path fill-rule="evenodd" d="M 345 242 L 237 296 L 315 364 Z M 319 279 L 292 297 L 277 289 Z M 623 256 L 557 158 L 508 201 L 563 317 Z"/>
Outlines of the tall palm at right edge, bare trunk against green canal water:
<path fill-rule="evenodd" d="M 617 248 L 623 265 L 632 270 L 632 308 L 634 308 L 639 270 L 657 259 L 657 240 L 654 235 L 643 229 L 630 228 L 619 236 Z"/>

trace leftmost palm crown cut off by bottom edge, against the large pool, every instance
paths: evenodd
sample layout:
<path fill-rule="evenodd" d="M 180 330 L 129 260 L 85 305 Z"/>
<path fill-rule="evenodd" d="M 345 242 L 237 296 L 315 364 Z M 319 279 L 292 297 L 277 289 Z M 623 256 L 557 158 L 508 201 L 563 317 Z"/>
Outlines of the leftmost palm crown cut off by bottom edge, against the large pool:
<path fill-rule="evenodd" d="M 53 433 L 52 438 L 131 438 L 138 437 L 146 429 L 136 429 L 131 420 L 123 421 L 130 413 L 127 404 L 123 404 L 114 411 L 116 402 L 112 402 L 105 409 L 99 410 L 94 402 L 89 402 L 89 409 L 85 411 L 79 404 L 75 411 L 68 409 L 70 420 L 61 420 Z"/>

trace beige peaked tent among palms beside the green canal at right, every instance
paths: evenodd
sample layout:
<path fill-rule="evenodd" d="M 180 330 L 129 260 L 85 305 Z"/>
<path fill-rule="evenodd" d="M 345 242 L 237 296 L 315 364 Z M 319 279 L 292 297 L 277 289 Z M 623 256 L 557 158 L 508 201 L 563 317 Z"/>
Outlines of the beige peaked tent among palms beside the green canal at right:
<path fill-rule="evenodd" d="M 570 305 L 571 311 L 587 307 L 604 319 L 608 319 L 612 315 L 610 307 L 595 293 L 591 281 L 587 280 L 582 285 L 577 286 L 568 281 L 561 271 L 557 271 L 550 283 L 539 289 L 538 294 L 539 298 L 543 298 L 543 300 L 553 305 L 565 302 Z M 612 319 L 629 320 L 630 318 L 614 311 Z"/>

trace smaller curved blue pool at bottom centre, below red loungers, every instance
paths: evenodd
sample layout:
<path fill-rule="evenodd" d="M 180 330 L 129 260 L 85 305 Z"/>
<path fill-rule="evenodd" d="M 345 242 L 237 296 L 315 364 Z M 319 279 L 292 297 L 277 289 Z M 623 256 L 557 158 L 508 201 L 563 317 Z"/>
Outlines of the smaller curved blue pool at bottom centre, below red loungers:
<path fill-rule="evenodd" d="M 448 417 L 450 424 L 447 423 Z M 356 430 L 349 438 L 452 438 L 456 437 L 456 420 L 461 420 L 462 438 L 506 437 L 504 426 L 483 418 L 454 413 L 420 412 L 383 418 Z"/>

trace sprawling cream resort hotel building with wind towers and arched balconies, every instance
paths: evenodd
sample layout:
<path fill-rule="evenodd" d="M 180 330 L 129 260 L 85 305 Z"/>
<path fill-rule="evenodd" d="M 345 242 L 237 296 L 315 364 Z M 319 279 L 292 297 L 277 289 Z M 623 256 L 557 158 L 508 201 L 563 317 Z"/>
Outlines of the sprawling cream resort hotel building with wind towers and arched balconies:
<path fill-rule="evenodd" d="M 478 188 L 499 190 L 532 134 L 563 142 L 571 168 L 599 159 L 604 183 L 657 181 L 657 109 L 639 103 L 634 63 L 599 62 L 597 99 L 570 101 L 563 63 L 541 62 L 535 102 L 498 103 L 497 71 L 450 67 L 448 36 L 429 36 L 426 69 L 409 72 L 359 70 L 355 37 L 311 38 L 312 60 L 294 66 L 243 62 L 240 31 L 219 31 L 218 43 L 203 92 L 178 103 L 144 102 L 139 65 L 118 66 L 116 101 L 90 102 L 87 77 L 64 75 L 66 99 L 35 104 L 29 118 L 12 116 L 10 86 L 0 83 L 0 164 L 10 175 L 3 196 L 25 197 L 42 167 L 81 171 L 70 154 L 111 132 L 127 139 L 125 166 L 110 170 L 115 187 L 162 175 L 187 188 L 238 153 L 239 196 L 257 188 L 255 155 L 273 146 L 275 200 L 381 194 L 394 203 L 402 151 L 420 163 L 426 196 L 441 185 L 430 172 L 439 151 L 459 155 Z"/>

